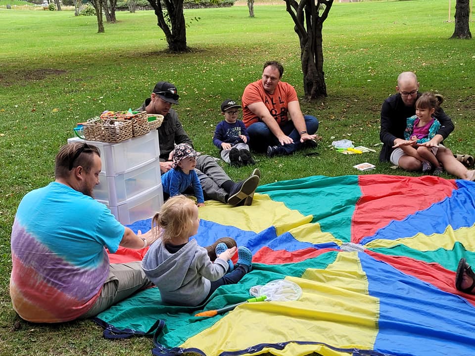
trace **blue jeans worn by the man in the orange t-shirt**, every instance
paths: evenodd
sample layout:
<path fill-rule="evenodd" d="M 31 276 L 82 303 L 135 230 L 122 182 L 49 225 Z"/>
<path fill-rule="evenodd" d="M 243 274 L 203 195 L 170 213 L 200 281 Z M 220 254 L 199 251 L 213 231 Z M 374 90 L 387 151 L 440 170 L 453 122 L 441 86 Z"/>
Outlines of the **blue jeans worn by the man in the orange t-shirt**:
<path fill-rule="evenodd" d="M 318 130 L 317 118 L 310 115 L 305 115 L 303 118 L 305 119 L 307 133 L 315 134 Z M 281 130 L 293 140 L 293 143 L 283 146 L 286 154 L 291 154 L 301 148 L 302 143 L 300 142 L 300 133 L 295 130 L 292 121 L 288 121 L 281 126 Z M 281 144 L 269 127 L 263 122 L 257 122 L 249 126 L 247 128 L 247 133 L 249 134 L 249 146 L 257 152 L 266 152 L 268 146 Z"/>

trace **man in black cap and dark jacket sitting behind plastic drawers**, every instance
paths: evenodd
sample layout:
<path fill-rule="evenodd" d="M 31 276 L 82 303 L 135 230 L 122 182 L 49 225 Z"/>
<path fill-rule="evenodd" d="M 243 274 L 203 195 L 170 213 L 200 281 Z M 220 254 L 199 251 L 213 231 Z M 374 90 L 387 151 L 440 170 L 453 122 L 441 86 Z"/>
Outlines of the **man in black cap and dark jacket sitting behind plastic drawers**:
<path fill-rule="evenodd" d="M 177 113 L 171 108 L 173 104 L 178 104 L 179 98 L 177 88 L 173 84 L 158 82 L 150 98 L 137 109 L 164 117 L 162 125 L 157 129 L 162 173 L 172 168 L 171 153 L 175 144 L 187 143 L 193 147 L 193 142 L 183 129 Z M 252 197 L 260 179 L 258 169 L 255 169 L 249 178 L 234 182 L 213 157 L 203 154 L 197 157 L 195 170 L 206 199 L 218 200 L 233 206 L 252 204 Z"/>

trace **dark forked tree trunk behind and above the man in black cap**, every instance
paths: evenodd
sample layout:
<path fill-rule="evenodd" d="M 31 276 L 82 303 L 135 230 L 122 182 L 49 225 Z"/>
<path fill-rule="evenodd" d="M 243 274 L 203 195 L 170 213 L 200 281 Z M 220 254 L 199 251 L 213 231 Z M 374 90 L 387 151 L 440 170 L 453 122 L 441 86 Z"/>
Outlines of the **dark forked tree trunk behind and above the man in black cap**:
<path fill-rule="evenodd" d="M 171 52 L 186 52 L 190 49 L 187 46 L 187 27 L 183 14 L 183 0 L 148 0 L 155 10 L 158 19 L 158 26 L 165 34 L 168 49 Z M 162 9 L 161 3 L 166 9 Z"/>

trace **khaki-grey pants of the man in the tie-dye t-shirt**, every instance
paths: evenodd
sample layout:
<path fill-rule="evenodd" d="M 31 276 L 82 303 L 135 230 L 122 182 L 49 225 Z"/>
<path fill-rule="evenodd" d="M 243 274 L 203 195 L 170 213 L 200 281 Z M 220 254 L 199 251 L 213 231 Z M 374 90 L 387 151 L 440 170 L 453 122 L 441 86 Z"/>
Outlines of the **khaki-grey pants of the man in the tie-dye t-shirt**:
<path fill-rule="evenodd" d="M 145 277 L 145 273 L 140 267 L 140 264 L 141 261 L 126 264 L 111 264 L 109 267 L 109 276 L 102 286 L 99 298 L 97 298 L 93 307 L 79 318 L 87 319 L 93 317 L 131 296 L 141 288 L 152 285 Z"/>

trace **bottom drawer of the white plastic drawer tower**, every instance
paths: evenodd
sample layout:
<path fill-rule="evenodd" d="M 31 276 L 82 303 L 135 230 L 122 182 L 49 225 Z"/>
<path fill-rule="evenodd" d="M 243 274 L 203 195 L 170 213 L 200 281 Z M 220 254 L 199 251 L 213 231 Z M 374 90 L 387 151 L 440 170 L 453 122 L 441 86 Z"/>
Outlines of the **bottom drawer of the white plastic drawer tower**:
<path fill-rule="evenodd" d="M 139 220 L 153 217 L 155 213 L 160 210 L 162 205 L 163 192 L 160 182 L 160 185 L 148 189 L 133 198 L 127 199 L 122 204 L 109 206 L 109 209 L 121 224 L 128 225 Z"/>

